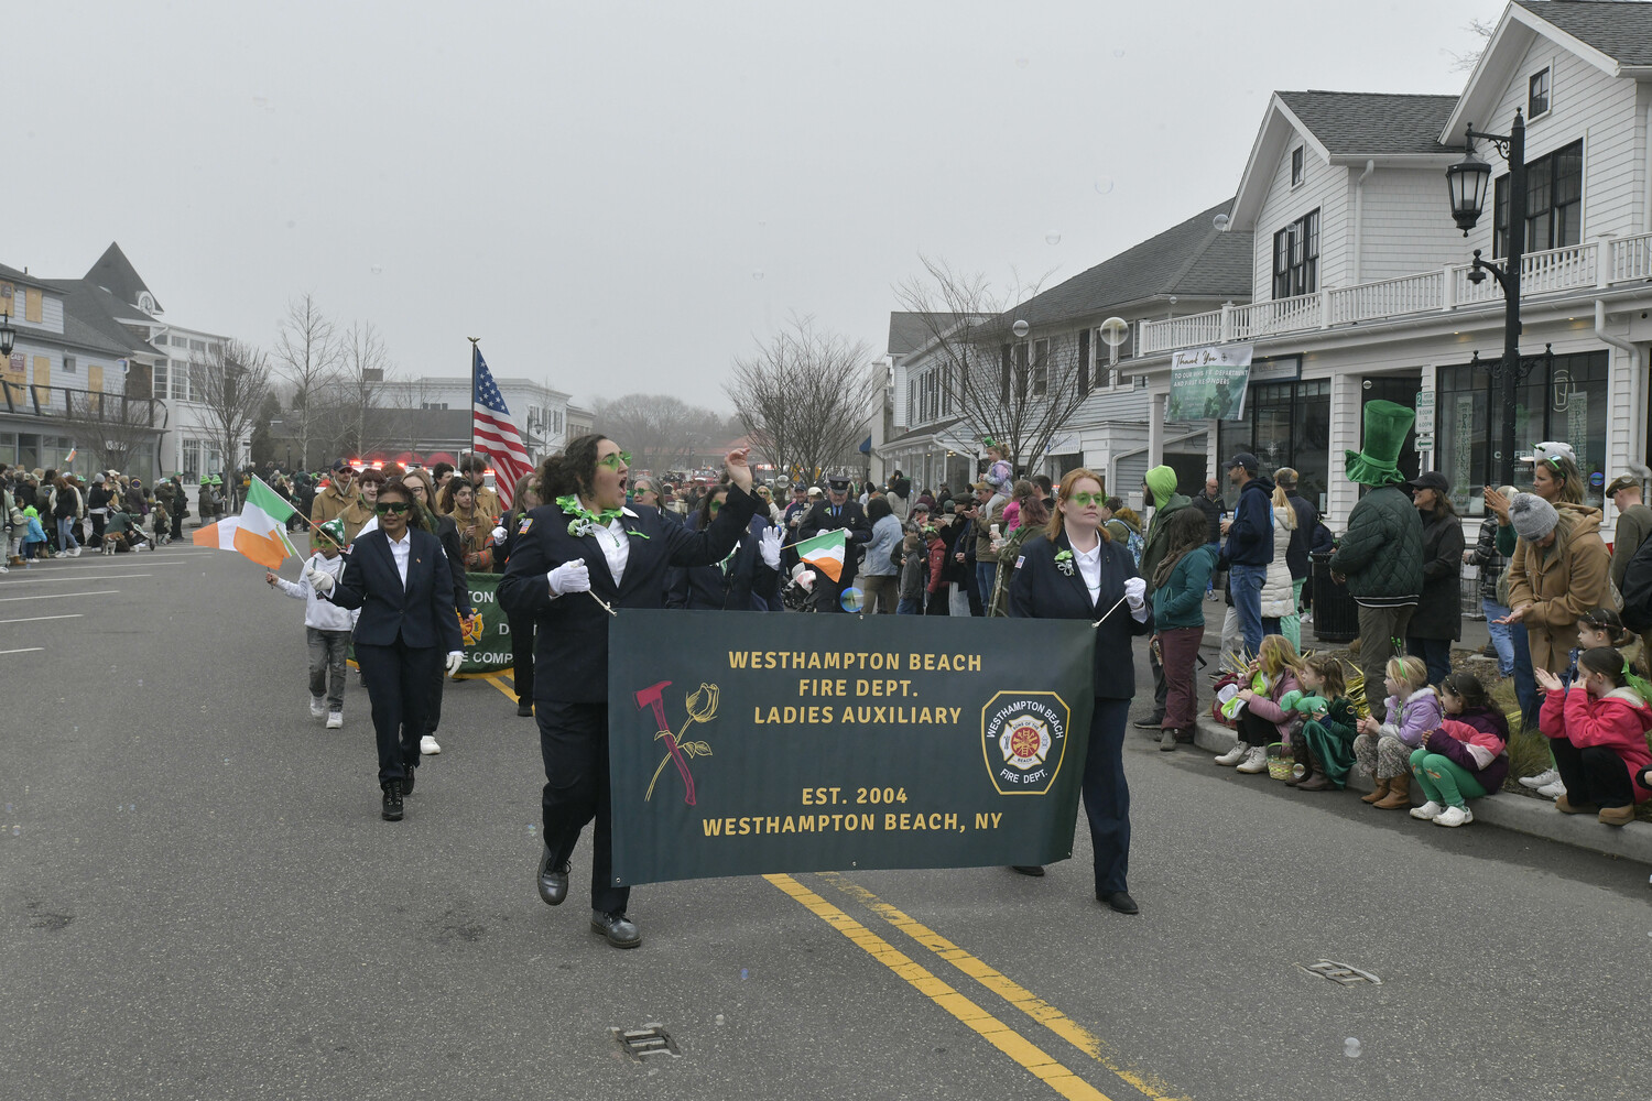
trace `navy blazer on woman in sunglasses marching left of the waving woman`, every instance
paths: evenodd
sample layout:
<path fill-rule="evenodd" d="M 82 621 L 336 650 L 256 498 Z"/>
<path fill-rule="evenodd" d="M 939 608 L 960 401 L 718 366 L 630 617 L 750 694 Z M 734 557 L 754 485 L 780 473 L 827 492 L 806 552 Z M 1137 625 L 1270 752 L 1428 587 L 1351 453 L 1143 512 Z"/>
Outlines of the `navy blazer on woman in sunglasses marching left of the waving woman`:
<path fill-rule="evenodd" d="M 401 636 L 410 647 L 439 647 L 444 654 L 463 650 L 459 606 L 469 604 L 469 593 L 454 596 L 453 571 L 441 540 L 420 528 L 408 528 L 408 538 L 413 545 L 405 588 L 390 553 L 390 536 L 378 528 L 350 545 L 344 574 L 327 599 L 339 607 L 362 609 L 362 617 L 355 621 L 355 640 L 362 645 L 393 645 Z"/>

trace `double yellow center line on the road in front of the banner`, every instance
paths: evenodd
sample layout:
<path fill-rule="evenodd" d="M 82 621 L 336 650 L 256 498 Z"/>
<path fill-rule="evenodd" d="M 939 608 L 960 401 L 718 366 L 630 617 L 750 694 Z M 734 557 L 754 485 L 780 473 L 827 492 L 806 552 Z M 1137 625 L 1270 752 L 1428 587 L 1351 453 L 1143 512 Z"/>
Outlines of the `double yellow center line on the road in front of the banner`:
<path fill-rule="evenodd" d="M 900 952 L 889 941 L 867 929 L 847 913 L 798 883 L 793 877 L 765 875 L 763 878 L 795 898 L 805 910 L 818 916 L 821 921 L 843 933 L 854 944 L 861 946 L 861 949 L 864 949 L 872 959 L 889 967 L 900 979 L 905 979 L 919 994 L 923 994 L 935 1002 L 935 1005 L 952 1014 L 958 1022 L 1013 1058 L 1028 1073 L 1046 1083 L 1061 1096 L 1070 1098 L 1072 1101 L 1112 1101 L 1112 1098 L 1079 1078 L 1070 1068 L 1059 1063 L 1052 1055 L 1039 1048 L 1004 1022 L 993 1017 L 976 1002 L 960 994 L 957 989 L 938 979 L 910 956 Z M 909 938 L 940 956 L 957 971 L 963 972 L 970 979 L 975 979 L 988 990 L 1009 1002 L 1009 1005 L 1089 1055 L 1092 1060 L 1118 1076 L 1118 1080 L 1128 1084 L 1137 1094 L 1153 1098 L 1155 1101 L 1173 1101 L 1171 1091 L 1165 1083 L 1122 1066 L 1107 1053 L 1105 1045 L 1099 1037 L 1049 1002 L 1036 997 L 1031 990 L 1026 990 L 933 929 L 914 921 L 864 886 L 833 872 L 821 873 L 821 878 L 864 905 L 900 933 L 905 933 Z"/>

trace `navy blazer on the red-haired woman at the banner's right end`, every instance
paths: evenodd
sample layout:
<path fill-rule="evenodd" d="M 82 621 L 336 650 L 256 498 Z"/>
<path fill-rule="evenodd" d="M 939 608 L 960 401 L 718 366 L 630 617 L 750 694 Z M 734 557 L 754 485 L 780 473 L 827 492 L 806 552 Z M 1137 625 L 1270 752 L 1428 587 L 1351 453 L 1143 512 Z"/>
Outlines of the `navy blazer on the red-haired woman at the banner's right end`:
<path fill-rule="evenodd" d="M 1072 543 L 1062 532 L 1052 543 L 1049 536 L 1034 535 L 1021 545 L 1009 581 L 1009 614 L 1023 619 L 1095 619 L 1113 607 L 1125 594 L 1125 581 L 1137 576 L 1135 560 L 1123 543 L 1102 543 L 1102 588 L 1095 601 L 1084 584 L 1077 563 L 1072 576 L 1056 565 L 1059 551 L 1070 551 Z M 1102 626 L 1095 629 L 1095 695 L 1104 700 L 1128 700 L 1135 697 L 1135 654 L 1130 639 L 1153 632 L 1153 612 L 1148 606 L 1146 622 L 1137 622 L 1128 604 L 1120 604 Z"/>

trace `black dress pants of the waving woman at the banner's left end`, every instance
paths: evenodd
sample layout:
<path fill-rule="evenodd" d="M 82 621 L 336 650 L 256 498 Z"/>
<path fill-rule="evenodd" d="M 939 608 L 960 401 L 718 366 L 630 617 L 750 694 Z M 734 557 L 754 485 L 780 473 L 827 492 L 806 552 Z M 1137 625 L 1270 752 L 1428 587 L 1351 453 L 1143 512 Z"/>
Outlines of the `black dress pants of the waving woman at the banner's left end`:
<path fill-rule="evenodd" d="M 629 886 L 613 881 L 613 812 L 608 806 L 608 705 L 539 700 L 539 751 L 545 758 L 545 848 L 565 863 L 585 824 L 591 837 L 591 910 L 624 913 Z"/>

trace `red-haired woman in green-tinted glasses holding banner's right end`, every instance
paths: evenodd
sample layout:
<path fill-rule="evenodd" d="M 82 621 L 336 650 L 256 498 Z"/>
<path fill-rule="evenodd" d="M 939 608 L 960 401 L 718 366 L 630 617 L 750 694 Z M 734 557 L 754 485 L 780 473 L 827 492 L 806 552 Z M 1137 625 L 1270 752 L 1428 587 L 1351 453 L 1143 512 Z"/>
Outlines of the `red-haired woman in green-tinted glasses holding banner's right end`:
<path fill-rule="evenodd" d="M 1123 744 L 1135 655 L 1130 640 L 1153 631 L 1146 583 L 1130 551 L 1102 528 L 1102 479 L 1069 470 L 1056 492 L 1044 533 L 1014 561 L 1009 614 L 1023 619 L 1089 619 L 1095 624 L 1095 710 L 1084 761 L 1084 814 L 1095 848 L 1095 898 L 1118 913 L 1138 913 L 1125 881 L 1130 868 L 1130 787 Z M 1016 868 L 1042 875 L 1042 868 Z"/>

